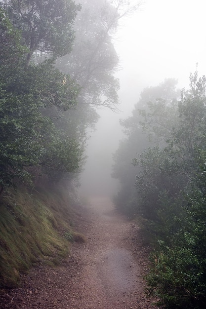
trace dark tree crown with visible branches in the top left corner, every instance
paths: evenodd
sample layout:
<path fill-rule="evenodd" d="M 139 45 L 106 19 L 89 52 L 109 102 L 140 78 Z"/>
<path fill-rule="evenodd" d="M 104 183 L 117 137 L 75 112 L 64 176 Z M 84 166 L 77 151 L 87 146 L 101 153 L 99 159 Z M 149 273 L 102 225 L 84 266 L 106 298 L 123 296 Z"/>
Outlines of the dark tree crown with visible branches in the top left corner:
<path fill-rule="evenodd" d="M 35 50 L 51 53 L 55 58 L 71 51 L 72 26 L 80 5 L 73 0 L 2 0 L 15 28 L 21 30 L 28 46 L 26 67 Z"/>

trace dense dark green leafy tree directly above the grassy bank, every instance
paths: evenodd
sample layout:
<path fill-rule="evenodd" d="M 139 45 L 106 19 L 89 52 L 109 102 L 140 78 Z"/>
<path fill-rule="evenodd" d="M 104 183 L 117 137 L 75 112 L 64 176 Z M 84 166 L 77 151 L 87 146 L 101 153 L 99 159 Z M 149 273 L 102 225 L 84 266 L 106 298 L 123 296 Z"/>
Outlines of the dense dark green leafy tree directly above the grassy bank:
<path fill-rule="evenodd" d="M 29 65 L 25 70 L 27 48 L 21 45 L 5 11 L 0 9 L 0 186 L 1 190 L 30 179 L 31 167 L 46 172 L 74 171 L 82 151 L 78 142 L 62 135 L 51 118 L 43 116 L 45 107 L 67 110 L 76 104 L 78 87 L 54 68 L 52 60 Z M 11 61 L 13 60 L 13 61 Z M 61 150 L 61 151 L 60 151 Z"/>

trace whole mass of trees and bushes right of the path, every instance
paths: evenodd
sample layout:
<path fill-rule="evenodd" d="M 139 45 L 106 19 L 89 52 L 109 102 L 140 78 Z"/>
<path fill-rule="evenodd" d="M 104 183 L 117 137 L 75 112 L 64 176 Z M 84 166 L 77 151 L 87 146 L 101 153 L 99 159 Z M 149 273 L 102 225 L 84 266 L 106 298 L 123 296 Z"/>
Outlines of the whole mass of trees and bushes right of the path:
<path fill-rule="evenodd" d="M 153 241 L 148 292 L 166 308 L 205 308 L 206 77 L 191 74 L 181 93 L 175 84 L 145 89 L 122 121 L 115 202 Z"/>

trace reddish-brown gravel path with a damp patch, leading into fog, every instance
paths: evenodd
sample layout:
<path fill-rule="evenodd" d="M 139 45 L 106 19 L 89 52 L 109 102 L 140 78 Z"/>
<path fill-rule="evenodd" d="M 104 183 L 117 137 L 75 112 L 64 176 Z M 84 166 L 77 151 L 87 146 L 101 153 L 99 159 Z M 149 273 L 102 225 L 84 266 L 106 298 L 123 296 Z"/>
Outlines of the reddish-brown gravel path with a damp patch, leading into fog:
<path fill-rule="evenodd" d="M 0 309 L 156 309 L 144 292 L 148 248 L 141 234 L 134 241 L 139 228 L 99 197 L 78 218 L 86 242 L 74 243 L 61 266 L 36 266 L 20 287 L 1 291 Z"/>

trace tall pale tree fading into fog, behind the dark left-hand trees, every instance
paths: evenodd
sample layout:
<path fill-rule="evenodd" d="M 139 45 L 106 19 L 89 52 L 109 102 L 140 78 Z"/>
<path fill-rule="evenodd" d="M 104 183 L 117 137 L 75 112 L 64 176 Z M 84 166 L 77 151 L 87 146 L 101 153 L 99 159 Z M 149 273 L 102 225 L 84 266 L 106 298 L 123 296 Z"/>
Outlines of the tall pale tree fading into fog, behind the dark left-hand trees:
<path fill-rule="evenodd" d="M 128 1 L 83 1 L 74 29 L 76 38 L 70 54 L 57 61 L 57 67 L 70 74 L 82 86 L 80 104 L 106 106 L 113 110 L 118 104 L 119 69 L 113 37 L 121 18 L 138 5 Z"/>

